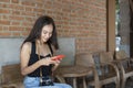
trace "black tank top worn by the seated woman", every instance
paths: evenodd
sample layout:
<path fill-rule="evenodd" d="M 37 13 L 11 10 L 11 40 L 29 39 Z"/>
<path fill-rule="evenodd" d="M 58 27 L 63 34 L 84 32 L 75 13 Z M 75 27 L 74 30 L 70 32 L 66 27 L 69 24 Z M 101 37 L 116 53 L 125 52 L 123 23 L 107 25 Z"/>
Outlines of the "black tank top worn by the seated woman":
<path fill-rule="evenodd" d="M 51 54 L 53 55 L 53 51 L 52 51 L 51 45 L 50 44 L 48 44 L 48 45 L 49 45 L 49 48 L 51 51 Z M 44 59 L 44 57 L 51 57 L 51 54 L 48 54 L 47 56 L 40 56 L 40 58 Z M 35 42 L 32 42 L 31 55 L 30 55 L 28 66 L 34 64 L 38 61 L 39 61 L 39 57 L 38 57 L 38 54 L 35 54 Z M 42 69 L 42 76 L 50 76 L 52 74 L 52 65 L 41 66 L 41 69 Z M 28 76 L 30 76 L 30 77 L 40 77 L 40 68 L 37 68 L 34 72 L 32 72 Z"/>

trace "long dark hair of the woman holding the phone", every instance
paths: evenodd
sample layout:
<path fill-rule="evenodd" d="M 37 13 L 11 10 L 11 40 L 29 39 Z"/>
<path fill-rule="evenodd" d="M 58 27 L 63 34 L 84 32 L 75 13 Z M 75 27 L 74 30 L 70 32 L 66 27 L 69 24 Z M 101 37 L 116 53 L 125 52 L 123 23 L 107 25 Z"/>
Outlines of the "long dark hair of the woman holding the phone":
<path fill-rule="evenodd" d="M 55 24 L 54 24 L 53 19 L 48 16 L 48 15 L 42 15 L 42 16 L 40 16 L 35 21 L 35 23 L 34 23 L 34 25 L 33 25 L 29 36 L 24 40 L 22 45 L 25 42 L 35 42 L 35 40 L 40 38 L 41 37 L 42 28 L 44 25 L 48 25 L 48 24 L 52 24 L 53 25 L 52 36 L 49 38 L 48 43 L 52 44 L 54 46 L 54 48 L 58 50 L 59 48 L 59 44 L 58 44 Z"/>

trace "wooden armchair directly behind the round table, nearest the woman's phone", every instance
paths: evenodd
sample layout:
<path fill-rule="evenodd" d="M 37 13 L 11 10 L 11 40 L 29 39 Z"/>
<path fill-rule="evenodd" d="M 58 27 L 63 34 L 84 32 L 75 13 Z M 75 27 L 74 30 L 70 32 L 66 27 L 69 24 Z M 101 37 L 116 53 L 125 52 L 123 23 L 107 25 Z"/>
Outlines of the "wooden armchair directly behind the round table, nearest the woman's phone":
<path fill-rule="evenodd" d="M 88 53 L 82 53 L 82 54 L 76 54 L 75 55 L 75 65 L 79 66 L 85 66 L 85 67 L 93 67 L 93 73 L 86 77 L 88 79 L 88 85 L 94 86 L 95 88 L 100 88 L 100 80 L 99 80 L 99 75 L 95 68 L 94 59 L 92 57 L 92 54 Z M 90 78 L 91 77 L 91 78 Z"/>

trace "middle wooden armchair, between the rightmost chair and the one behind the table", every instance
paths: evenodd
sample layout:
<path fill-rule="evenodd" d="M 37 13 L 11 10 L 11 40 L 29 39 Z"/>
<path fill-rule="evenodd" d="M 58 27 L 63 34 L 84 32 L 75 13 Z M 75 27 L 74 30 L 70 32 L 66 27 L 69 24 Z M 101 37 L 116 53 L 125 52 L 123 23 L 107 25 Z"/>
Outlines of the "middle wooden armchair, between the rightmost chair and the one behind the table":
<path fill-rule="evenodd" d="M 101 85 L 114 82 L 115 88 L 120 88 L 120 72 L 114 64 L 114 57 L 112 52 L 100 53 L 100 68 L 102 75 L 100 76 Z"/>

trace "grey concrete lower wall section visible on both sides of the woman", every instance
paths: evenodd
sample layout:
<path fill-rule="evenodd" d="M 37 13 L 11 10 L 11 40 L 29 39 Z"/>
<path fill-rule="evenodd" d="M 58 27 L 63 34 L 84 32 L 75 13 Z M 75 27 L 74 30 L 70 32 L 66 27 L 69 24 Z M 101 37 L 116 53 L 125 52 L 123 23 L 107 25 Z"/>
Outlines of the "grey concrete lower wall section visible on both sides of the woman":
<path fill-rule="evenodd" d="M 0 38 L 0 73 L 1 66 L 20 63 L 20 46 L 24 38 Z M 73 65 L 75 55 L 75 40 L 60 37 L 60 50 L 57 54 L 64 54 L 61 65 Z"/>

